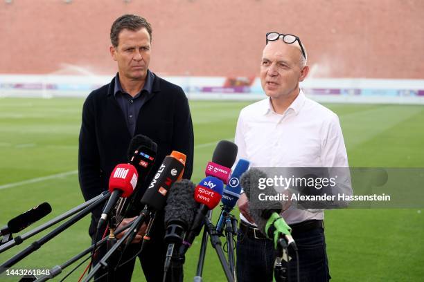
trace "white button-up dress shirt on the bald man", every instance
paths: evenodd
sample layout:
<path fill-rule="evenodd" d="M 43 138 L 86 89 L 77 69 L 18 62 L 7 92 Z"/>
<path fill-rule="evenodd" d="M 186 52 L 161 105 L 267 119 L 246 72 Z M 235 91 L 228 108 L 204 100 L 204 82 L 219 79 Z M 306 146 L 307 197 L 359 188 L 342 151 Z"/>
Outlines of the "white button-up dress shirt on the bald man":
<path fill-rule="evenodd" d="M 302 90 L 283 114 L 274 112 L 269 97 L 243 108 L 235 142 L 237 159 L 251 167 L 348 167 L 339 118 Z M 288 224 L 324 219 L 322 210 L 292 207 L 281 215 Z"/>

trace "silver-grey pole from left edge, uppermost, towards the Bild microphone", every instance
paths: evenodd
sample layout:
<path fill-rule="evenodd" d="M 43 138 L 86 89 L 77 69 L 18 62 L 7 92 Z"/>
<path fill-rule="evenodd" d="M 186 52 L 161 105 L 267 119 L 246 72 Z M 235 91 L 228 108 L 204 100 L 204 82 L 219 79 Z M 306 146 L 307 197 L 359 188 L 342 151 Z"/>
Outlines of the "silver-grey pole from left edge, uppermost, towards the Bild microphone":
<path fill-rule="evenodd" d="M 76 214 L 77 212 L 80 212 L 82 209 L 85 209 L 92 203 L 96 202 L 96 200 L 99 200 L 103 197 L 105 197 L 109 192 L 103 192 L 102 194 L 92 198 L 91 200 L 87 200 L 87 202 L 82 203 L 81 205 L 78 205 L 77 207 L 74 207 L 73 209 L 70 209 L 68 212 L 65 212 L 64 214 L 61 214 L 60 216 L 56 216 L 52 220 L 48 221 L 47 223 L 44 223 L 43 225 L 40 225 L 39 227 L 26 232 L 22 236 L 16 236 L 15 239 L 12 241 L 8 241 L 6 244 L 0 246 L 0 254 L 6 250 L 9 250 L 11 247 L 14 247 L 15 245 L 19 245 L 22 242 L 24 242 L 26 239 L 39 234 L 39 232 L 44 231 L 48 227 L 51 227 L 55 225 L 56 223 L 60 223 L 60 221 L 65 220 L 66 218 L 69 218 L 69 216 L 72 216 L 73 214 Z"/>

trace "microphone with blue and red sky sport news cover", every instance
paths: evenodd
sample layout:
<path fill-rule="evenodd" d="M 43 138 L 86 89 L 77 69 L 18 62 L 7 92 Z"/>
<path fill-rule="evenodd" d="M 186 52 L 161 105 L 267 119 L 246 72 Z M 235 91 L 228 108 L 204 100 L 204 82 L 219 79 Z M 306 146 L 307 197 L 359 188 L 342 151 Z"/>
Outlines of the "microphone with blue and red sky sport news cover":
<path fill-rule="evenodd" d="M 191 225 L 186 238 L 184 238 L 183 254 L 191 246 L 194 238 L 200 233 L 204 223 L 204 216 L 206 216 L 210 209 L 214 209 L 220 203 L 223 189 L 224 184 L 222 180 L 212 176 L 206 176 L 195 188 L 194 199 L 197 203 L 200 203 L 200 207 L 197 209 L 193 225 Z"/>

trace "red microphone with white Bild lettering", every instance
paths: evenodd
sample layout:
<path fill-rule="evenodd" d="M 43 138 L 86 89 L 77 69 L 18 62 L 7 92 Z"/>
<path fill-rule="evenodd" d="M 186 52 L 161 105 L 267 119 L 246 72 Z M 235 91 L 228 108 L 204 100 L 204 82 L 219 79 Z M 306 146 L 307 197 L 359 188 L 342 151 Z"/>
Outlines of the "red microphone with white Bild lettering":
<path fill-rule="evenodd" d="M 119 197 L 127 198 L 131 196 L 137 185 L 138 173 L 132 164 L 118 164 L 112 171 L 109 178 L 110 198 L 103 209 L 103 213 L 98 220 L 97 229 L 102 229 L 107 217 L 118 202 Z"/>

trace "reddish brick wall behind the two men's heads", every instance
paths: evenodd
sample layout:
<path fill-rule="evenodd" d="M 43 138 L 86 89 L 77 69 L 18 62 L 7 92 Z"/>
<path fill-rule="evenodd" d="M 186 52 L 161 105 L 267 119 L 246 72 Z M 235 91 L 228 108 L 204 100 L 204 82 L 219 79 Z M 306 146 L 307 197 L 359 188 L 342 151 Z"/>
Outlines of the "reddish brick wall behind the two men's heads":
<path fill-rule="evenodd" d="M 314 77 L 424 78 L 423 0 L 9 1 L 0 73 L 114 73 L 110 25 L 136 13 L 152 23 L 151 69 L 164 75 L 258 75 L 274 30 L 301 37 Z"/>

